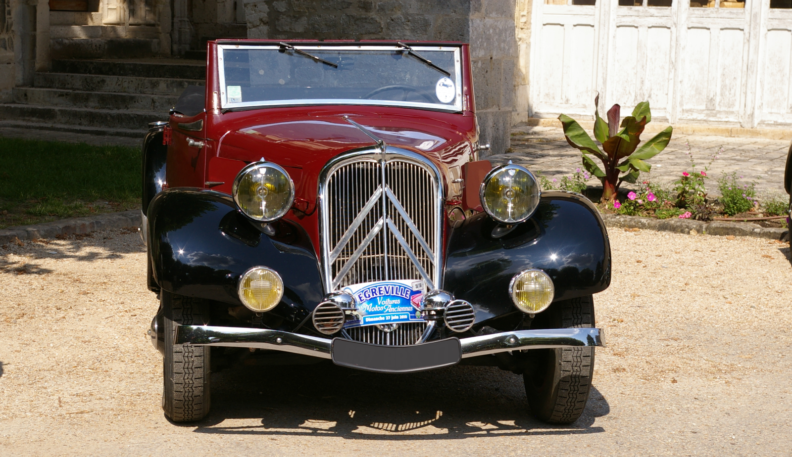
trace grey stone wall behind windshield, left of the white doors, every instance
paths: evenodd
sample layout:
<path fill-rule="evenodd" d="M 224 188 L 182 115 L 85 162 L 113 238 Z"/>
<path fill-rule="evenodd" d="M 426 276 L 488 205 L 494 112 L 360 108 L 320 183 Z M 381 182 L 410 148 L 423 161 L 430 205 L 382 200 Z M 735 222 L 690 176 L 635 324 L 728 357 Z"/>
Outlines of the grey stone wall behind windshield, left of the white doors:
<path fill-rule="evenodd" d="M 470 43 L 481 141 L 509 147 L 515 0 L 244 0 L 249 38 Z"/>

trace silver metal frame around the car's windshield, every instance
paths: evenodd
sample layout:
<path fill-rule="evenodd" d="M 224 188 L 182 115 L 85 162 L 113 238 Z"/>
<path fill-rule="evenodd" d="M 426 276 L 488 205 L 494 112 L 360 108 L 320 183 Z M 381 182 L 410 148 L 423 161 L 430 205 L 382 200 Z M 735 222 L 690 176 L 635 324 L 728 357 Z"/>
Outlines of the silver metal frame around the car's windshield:
<path fill-rule="evenodd" d="M 297 44 L 290 43 L 300 51 L 306 51 L 309 54 L 311 51 L 324 51 L 326 49 L 333 49 L 338 51 L 404 51 L 406 48 L 396 44 L 333 44 L 333 43 L 317 43 L 317 44 Z M 447 51 L 454 52 L 455 62 L 455 81 L 456 97 L 454 104 L 434 104 L 413 101 L 401 100 L 362 100 L 362 99 L 298 99 L 298 100 L 261 100 L 261 101 L 248 101 L 248 102 L 234 102 L 230 103 L 226 94 L 226 75 L 225 66 L 223 65 L 223 51 L 240 50 L 240 49 L 266 49 L 279 51 L 280 45 L 278 43 L 272 44 L 221 44 L 217 45 L 217 73 L 220 85 L 220 107 L 223 111 L 234 109 L 251 109 L 251 108 L 278 108 L 288 106 L 314 106 L 314 105 L 364 105 L 364 106 L 393 106 L 399 108 L 419 108 L 428 109 L 432 111 L 446 111 L 446 112 L 462 112 L 463 111 L 463 81 L 462 81 L 462 51 L 461 46 L 455 45 L 413 45 L 410 44 L 413 51 Z M 414 58 L 410 58 L 414 59 Z M 425 65 L 418 59 L 415 61 L 419 65 Z M 450 70 L 450 69 L 445 69 Z M 444 76 L 439 71 L 438 75 Z"/>

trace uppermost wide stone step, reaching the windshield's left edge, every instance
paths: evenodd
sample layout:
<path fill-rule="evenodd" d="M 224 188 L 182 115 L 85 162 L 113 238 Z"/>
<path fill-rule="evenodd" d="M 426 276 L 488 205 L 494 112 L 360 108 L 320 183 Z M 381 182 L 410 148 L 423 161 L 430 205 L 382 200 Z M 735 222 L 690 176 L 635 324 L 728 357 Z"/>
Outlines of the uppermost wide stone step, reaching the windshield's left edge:
<path fill-rule="evenodd" d="M 185 59 L 56 59 L 55 73 L 206 80 L 206 62 Z"/>

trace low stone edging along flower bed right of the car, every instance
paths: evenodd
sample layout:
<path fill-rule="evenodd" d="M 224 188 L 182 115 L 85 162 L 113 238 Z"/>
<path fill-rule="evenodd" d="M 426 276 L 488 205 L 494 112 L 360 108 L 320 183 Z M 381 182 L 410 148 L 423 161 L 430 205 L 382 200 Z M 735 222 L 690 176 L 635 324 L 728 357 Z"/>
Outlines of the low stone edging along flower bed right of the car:
<path fill-rule="evenodd" d="M 648 229 L 690 235 L 753 236 L 768 240 L 789 240 L 789 230 L 764 228 L 752 222 L 701 222 L 690 219 L 655 219 L 653 217 L 603 214 L 607 227 Z M 695 233 L 694 233 L 695 231 Z"/>

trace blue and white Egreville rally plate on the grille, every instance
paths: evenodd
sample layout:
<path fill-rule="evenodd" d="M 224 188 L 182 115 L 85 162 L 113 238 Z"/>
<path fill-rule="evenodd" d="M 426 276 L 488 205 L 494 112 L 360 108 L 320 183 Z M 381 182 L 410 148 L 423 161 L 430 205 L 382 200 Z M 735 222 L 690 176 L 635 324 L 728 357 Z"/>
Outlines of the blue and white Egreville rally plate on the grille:
<path fill-rule="evenodd" d="M 417 280 L 364 282 L 348 285 L 344 292 L 357 302 L 355 319 L 348 319 L 344 328 L 363 327 L 383 323 L 424 322 L 421 319 L 421 299 L 425 282 Z"/>

